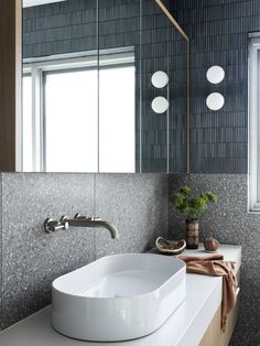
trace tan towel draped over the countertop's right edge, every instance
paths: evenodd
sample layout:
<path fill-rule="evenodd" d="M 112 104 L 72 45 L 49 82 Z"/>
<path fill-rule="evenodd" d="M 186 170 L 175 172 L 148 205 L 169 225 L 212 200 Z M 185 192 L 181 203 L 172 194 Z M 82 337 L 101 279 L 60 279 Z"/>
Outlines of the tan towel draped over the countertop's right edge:
<path fill-rule="evenodd" d="M 206 256 L 178 256 L 187 266 L 188 273 L 223 277 L 221 331 L 226 331 L 227 315 L 236 304 L 237 278 L 235 262 L 224 261 L 218 253 Z"/>

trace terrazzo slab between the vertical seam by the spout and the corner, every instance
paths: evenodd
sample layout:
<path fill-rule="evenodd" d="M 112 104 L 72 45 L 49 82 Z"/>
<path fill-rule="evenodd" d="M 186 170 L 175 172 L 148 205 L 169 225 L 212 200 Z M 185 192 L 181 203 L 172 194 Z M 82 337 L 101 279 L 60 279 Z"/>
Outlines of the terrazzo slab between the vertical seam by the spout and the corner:
<path fill-rule="evenodd" d="M 167 229 L 166 175 L 96 175 L 96 214 L 120 230 L 119 241 L 96 234 L 97 257 L 118 252 L 142 252 L 154 246 Z"/>

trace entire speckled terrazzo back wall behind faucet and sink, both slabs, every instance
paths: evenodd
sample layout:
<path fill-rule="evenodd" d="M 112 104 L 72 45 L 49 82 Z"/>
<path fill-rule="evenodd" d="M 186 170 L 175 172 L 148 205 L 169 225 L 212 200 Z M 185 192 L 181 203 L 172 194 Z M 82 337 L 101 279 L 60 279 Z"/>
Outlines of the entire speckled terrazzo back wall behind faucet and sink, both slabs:
<path fill-rule="evenodd" d="M 2 174 L 2 327 L 51 302 L 51 282 L 102 255 L 143 251 L 166 234 L 166 175 Z M 46 217 L 75 213 L 113 223 L 120 240 L 104 229 L 47 235 Z"/>

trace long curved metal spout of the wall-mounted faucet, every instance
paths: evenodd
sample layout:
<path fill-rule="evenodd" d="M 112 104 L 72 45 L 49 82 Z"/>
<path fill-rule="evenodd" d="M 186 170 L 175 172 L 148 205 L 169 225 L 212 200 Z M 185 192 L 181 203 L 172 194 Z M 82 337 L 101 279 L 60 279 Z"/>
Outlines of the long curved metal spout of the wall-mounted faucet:
<path fill-rule="evenodd" d="M 99 217 L 93 218 L 76 214 L 73 219 L 67 219 L 67 223 L 69 226 L 76 227 L 106 228 L 107 230 L 109 230 L 112 239 L 118 239 L 117 228 Z"/>

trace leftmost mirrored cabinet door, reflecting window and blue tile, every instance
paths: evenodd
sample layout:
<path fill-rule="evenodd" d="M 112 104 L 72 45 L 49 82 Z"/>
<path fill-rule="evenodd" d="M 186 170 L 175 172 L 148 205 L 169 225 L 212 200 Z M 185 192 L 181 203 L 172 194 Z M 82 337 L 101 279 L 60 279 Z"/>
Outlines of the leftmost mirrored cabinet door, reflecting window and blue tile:
<path fill-rule="evenodd" d="M 98 4 L 23 0 L 22 170 L 98 172 Z"/>

